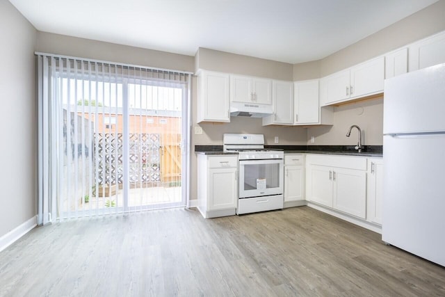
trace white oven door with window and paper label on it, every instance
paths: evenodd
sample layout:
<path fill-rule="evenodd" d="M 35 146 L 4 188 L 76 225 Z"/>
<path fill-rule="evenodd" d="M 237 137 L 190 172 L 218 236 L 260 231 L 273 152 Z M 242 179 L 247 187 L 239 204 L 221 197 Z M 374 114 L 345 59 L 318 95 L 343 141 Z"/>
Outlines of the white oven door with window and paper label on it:
<path fill-rule="evenodd" d="M 238 198 L 283 193 L 283 159 L 240 160 Z"/>

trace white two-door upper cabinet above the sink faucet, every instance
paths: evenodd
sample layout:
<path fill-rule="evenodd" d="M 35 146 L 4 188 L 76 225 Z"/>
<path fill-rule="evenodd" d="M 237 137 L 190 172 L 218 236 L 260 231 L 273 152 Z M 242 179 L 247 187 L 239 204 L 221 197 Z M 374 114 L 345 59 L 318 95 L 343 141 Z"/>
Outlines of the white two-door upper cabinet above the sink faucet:
<path fill-rule="evenodd" d="M 321 79 L 321 104 L 330 105 L 383 92 L 385 58 L 379 57 Z"/>

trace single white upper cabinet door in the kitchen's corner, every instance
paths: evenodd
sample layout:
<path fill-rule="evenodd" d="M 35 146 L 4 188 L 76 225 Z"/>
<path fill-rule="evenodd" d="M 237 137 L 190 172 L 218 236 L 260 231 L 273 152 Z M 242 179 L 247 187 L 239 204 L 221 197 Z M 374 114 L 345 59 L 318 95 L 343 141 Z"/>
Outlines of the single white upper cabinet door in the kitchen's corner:
<path fill-rule="evenodd" d="M 300 81 L 294 85 L 295 124 L 317 124 L 319 122 L 320 105 L 318 102 L 318 79 Z"/>

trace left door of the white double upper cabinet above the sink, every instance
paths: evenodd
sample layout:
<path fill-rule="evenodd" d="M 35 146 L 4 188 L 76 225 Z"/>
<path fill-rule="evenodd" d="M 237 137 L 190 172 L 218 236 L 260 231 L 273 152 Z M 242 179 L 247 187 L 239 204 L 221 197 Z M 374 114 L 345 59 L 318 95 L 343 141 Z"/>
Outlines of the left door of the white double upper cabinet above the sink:
<path fill-rule="evenodd" d="M 343 70 L 332 74 L 325 79 L 327 98 L 326 103 L 339 102 L 344 99 L 348 99 L 350 88 L 350 72 L 349 70 Z"/>

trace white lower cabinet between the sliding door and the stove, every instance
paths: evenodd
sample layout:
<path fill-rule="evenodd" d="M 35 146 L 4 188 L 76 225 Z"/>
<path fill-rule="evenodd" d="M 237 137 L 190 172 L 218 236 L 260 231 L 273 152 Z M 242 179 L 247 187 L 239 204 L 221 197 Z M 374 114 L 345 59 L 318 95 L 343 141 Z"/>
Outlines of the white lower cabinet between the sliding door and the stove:
<path fill-rule="evenodd" d="M 204 218 L 233 216 L 238 202 L 238 156 L 197 155 L 198 209 Z"/>

